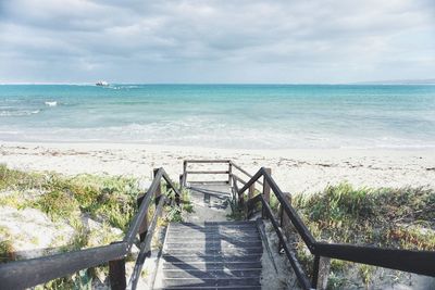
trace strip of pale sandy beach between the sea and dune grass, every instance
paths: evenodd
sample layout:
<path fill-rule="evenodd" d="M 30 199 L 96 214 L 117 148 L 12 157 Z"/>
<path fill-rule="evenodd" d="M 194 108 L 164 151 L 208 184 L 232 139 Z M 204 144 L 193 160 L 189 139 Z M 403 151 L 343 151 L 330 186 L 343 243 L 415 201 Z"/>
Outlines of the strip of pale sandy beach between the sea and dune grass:
<path fill-rule="evenodd" d="M 164 167 L 177 180 L 186 159 L 228 159 L 256 173 L 270 167 L 282 190 L 313 193 L 348 181 L 356 187 L 435 188 L 434 150 L 223 150 L 125 143 L 1 142 L 0 163 L 25 171 L 134 176 Z"/>

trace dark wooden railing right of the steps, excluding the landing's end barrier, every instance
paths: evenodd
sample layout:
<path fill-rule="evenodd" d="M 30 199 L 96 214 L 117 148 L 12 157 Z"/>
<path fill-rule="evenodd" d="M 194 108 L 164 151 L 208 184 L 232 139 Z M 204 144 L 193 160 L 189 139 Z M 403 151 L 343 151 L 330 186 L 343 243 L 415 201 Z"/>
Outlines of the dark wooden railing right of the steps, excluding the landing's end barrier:
<path fill-rule="evenodd" d="M 234 166 L 234 164 L 233 164 Z M 396 250 L 383 249 L 376 247 L 363 247 L 353 244 L 339 244 L 339 243 L 325 243 L 318 242 L 307 228 L 302 219 L 299 217 L 296 210 L 291 206 L 290 202 L 286 199 L 283 191 L 276 185 L 268 168 L 260 168 L 249 181 L 247 181 L 240 189 L 238 189 L 236 178 L 233 178 L 238 199 L 243 201 L 244 193 L 249 190 L 260 178 L 263 178 L 263 191 L 256 197 L 249 197 L 246 205 L 249 207 L 254 206 L 256 203 L 261 202 L 263 216 L 270 218 L 277 236 L 279 243 L 289 260 L 295 274 L 298 278 L 300 286 L 304 289 L 318 288 L 319 266 L 321 257 L 337 259 L 355 263 L 362 263 L 391 269 L 398 269 L 420 275 L 435 277 L 435 252 L 434 251 L 410 251 L 410 250 Z M 275 194 L 281 204 L 281 225 L 275 218 L 275 214 L 269 204 L 270 190 Z M 301 237 L 311 254 L 314 255 L 312 279 L 309 280 L 301 265 L 299 264 L 296 254 L 290 249 L 282 232 L 283 214 L 286 214 L 295 227 L 297 234 Z"/>

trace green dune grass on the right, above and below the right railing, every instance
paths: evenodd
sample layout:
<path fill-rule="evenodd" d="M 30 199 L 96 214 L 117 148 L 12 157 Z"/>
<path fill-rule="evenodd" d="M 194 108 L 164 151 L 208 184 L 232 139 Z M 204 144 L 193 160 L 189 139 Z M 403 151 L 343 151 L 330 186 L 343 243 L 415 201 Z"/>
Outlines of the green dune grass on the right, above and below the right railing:
<path fill-rule="evenodd" d="M 296 196 L 293 205 L 316 240 L 435 250 L 435 191 L 432 189 L 356 189 L 343 182 L 318 194 Z M 313 257 L 300 239 L 296 250 L 306 273 L 311 273 Z M 355 283 L 346 278 L 351 268 L 357 268 L 362 283 L 369 287 L 376 267 L 332 260 L 328 289 Z"/>

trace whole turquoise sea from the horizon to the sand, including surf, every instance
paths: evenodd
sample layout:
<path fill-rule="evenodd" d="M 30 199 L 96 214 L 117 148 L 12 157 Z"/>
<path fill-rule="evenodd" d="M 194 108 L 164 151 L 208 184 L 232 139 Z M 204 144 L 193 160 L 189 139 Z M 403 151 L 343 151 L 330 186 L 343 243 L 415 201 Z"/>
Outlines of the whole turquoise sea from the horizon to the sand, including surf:
<path fill-rule="evenodd" d="M 435 148 L 435 86 L 2 85 L 0 140 Z"/>

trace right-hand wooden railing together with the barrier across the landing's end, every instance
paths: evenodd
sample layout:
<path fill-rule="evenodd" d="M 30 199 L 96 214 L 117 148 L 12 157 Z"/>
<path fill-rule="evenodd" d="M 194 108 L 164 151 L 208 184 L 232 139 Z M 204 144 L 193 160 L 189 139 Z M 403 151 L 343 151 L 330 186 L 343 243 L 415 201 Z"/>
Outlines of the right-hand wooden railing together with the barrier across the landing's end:
<path fill-rule="evenodd" d="M 189 171 L 188 164 L 228 164 L 227 171 Z M 353 244 L 339 244 L 339 243 L 325 243 L 318 242 L 311 235 L 308 227 L 304 225 L 296 210 L 291 206 L 286 198 L 286 194 L 279 189 L 275 180 L 272 178 L 271 169 L 261 167 L 254 175 L 249 174 L 247 171 L 235 164 L 231 160 L 187 160 L 184 162 L 184 171 L 181 177 L 183 185 L 187 182 L 188 175 L 210 175 L 220 174 L 227 175 L 225 181 L 233 188 L 234 199 L 237 200 L 239 205 L 247 209 L 248 215 L 257 203 L 261 203 L 262 216 L 271 220 L 278 239 L 279 245 L 284 250 L 291 267 L 298 278 L 300 286 L 304 289 L 315 289 L 319 286 L 319 272 L 321 257 L 337 259 L 355 263 L 374 265 L 391 269 L 398 269 L 420 275 L 435 277 L 435 252 L 434 251 L 410 251 L 410 250 L 396 250 L 383 249 L 376 247 L 363 247 Z M 248 180 L 246 180 L 248 177 Z M 244 179 L 245 178 L 245 179 Z M 262 178 L 262 181 L 261 181 Z M 211 180 L 202 180 L 197 182 L 212 182 Z M 239 188 L 238 182 L 243 185 Z M 192 184 L 191 181 L 189 184 Z M 260 189 L 256 186 L 260 185 Z M 248 194 L 245 192 L 248 191 Z M 282 211 L 279 222 L 275 218 L 274 213 L 270 206 L 271 191 L 276 197 L 281 204 Z M 259 194 L 256 194 L 259 193 Z M 297 234 L 301 237 L 304 244 L 314 255 L 313 272 L 311 281 L 300 265 L 296 253 L 288 247 L 282 231 L 283 215 L 286 214 L 295 227 Z"/>

